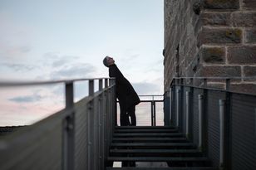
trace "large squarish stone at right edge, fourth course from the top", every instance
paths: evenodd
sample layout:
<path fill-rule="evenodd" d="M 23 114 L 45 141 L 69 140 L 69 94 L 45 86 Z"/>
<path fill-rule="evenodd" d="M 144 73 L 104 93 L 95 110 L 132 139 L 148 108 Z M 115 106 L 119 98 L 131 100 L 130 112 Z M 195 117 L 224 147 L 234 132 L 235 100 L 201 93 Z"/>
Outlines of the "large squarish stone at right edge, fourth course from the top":
<path fill-rule="evenodd" d="M 256 64 L 256 46 L 229 46 L 229 64 Z"/>

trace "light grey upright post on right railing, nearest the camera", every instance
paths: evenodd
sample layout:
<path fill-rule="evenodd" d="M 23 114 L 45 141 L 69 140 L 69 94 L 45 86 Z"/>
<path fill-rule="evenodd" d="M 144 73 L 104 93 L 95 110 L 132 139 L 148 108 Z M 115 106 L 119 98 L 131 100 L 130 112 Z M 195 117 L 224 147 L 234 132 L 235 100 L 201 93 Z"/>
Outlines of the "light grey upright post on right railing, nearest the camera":
<path fill-rule="evenodd" d="M 225 100 L 219 100 L 219 168 L 224 167 L 224 107 Z"/>

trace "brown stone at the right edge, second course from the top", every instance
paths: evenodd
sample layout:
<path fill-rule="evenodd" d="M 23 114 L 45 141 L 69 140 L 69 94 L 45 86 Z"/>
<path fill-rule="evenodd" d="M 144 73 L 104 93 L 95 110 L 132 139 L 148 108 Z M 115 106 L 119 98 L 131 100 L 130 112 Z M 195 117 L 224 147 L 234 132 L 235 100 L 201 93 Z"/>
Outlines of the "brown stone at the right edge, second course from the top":
<path fill-rule="evenodd" d="M 255 27 L 256 12 L 234 12 L 232 22 L 234 27 Z"/>

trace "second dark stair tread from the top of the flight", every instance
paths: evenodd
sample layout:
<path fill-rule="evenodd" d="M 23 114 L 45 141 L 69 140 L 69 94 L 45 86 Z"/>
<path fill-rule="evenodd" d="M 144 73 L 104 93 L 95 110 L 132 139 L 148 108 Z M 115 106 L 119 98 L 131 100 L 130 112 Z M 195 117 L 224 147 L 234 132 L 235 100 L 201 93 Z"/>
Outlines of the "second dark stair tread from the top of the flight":
<path fill-rule="evenodd" d="M 123 134 L 115 133 L 113 137 L 184 137 L 184 134 L 181 133 L 134 133 L 134 134 Z"/>

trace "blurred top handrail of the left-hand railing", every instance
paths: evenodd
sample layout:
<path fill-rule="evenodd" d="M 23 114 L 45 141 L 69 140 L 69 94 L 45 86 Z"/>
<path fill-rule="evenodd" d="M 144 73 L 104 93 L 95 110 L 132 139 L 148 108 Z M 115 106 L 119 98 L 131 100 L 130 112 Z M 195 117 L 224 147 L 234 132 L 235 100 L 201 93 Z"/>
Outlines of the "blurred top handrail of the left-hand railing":
<path fill-rule="evenodd" d="M 102 80 L 102 79 L 115 79 L 115 78 L 94 78 L 94 79 L 72 79 L 72 80 L 46 80 L 46 81 L 0 81 L 0 87 L 6 86 L 25 86 L 25 85 L 52 85 L 59 83 L 70 83 L 83 80 Z"/>

